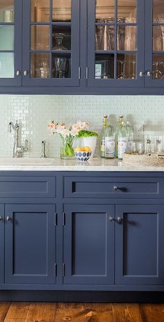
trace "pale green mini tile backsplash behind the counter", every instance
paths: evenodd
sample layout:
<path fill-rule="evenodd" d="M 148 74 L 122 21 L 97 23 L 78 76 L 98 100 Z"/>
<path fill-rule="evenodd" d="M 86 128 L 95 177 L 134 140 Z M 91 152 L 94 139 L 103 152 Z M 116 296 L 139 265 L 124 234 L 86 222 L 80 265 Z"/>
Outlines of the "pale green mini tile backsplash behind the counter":
<path fill-rule="evenodd" d="M 164 96 L 0 95 L 0 106 L 1 157 L 13 155 L 14 134 L 8 133 L 8 123 L 15 120 L 22 124 L 22 144 L 29 142 L 24 156 L 40 156 L 42 140 L 47 142 L 47 156 L 59 156 L 60 139 L 47 130 L 53 119 L 67 124 L 88 121 L 90 129 L 99 132 L 104 113 L 113 124 L 122 113 L 132 124 L 145 124 L 145 131 L 164 134 Z"/>

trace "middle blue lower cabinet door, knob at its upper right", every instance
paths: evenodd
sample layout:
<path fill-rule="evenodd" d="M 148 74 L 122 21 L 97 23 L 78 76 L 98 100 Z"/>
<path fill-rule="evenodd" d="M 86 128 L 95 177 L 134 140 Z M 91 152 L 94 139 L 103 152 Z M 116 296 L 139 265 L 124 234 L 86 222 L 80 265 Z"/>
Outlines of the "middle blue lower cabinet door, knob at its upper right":
<path fill-rule="evenodd" d="M 114 283 L 114 210 L 109 205 L 65 205 L 65 284 Z"/>

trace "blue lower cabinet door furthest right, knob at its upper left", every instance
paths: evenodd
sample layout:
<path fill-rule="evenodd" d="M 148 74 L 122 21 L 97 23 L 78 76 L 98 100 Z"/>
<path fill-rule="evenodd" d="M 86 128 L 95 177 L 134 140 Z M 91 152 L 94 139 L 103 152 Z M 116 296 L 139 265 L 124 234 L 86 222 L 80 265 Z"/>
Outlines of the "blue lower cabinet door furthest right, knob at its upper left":
<path fill-rule="evenodd" d="M 116 206 L 115 283 L 164 284 L 164 206 Z"/>

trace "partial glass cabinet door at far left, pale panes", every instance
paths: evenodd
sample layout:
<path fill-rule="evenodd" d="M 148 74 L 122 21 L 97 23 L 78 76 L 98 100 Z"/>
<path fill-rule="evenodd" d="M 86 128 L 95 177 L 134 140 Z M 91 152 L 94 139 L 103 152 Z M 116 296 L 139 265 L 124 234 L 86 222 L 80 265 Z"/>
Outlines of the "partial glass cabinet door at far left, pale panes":
<path fill-rule="evenodd" d="M 22 1 L 0 1 L 0 86 L 22 83 Z"/>

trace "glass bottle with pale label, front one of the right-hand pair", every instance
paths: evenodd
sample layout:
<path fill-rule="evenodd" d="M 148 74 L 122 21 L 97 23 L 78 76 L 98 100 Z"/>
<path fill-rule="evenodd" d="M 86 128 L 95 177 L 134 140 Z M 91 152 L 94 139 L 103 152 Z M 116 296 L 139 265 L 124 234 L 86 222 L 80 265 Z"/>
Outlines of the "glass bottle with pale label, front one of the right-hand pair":
<path fill-rule="evenodd" d="M 126 131 L 126 126 L 123 122 L 123 116 L 120 115 L 118 120 L 118 129 L 116 134 L 116 149 L 115 156 L 122 160 L 124 152 L 126 152 L 127 142 L 128 142 L 128 134 Z"/>

